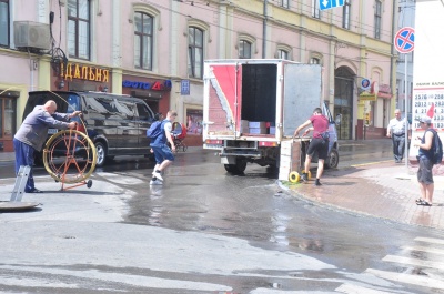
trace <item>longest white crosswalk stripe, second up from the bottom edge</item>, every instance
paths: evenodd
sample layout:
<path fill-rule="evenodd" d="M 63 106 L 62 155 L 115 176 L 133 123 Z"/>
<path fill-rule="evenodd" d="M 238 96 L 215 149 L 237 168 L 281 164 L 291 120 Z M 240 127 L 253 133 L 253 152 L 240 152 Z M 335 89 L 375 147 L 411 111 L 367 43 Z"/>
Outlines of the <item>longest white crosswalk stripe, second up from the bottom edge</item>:
<path fill-rule="evenodd" d="M 365 270 L 365 272 L 373 274 L 377 277 L 385 278 L 385 280 L 396 281 L 396 282 L 406 283 L 406 284 L 411 284 L 411 285 L 418 285 L 422 287 L 432 287 L 435 290 L 436 288 L 444 290 L 444 282 L 441 280 L 436 280 L 436 278 L 431 278 L 431 277 L 420 276 L 420 275 L 379 271 L 379 270 L 373 270 L 373 268 L 367 268 L 367 270 Z"/>

